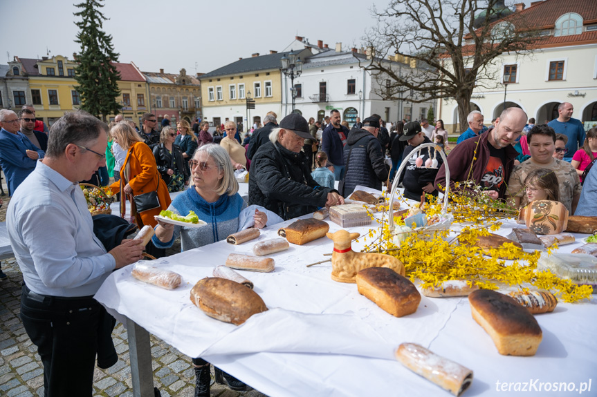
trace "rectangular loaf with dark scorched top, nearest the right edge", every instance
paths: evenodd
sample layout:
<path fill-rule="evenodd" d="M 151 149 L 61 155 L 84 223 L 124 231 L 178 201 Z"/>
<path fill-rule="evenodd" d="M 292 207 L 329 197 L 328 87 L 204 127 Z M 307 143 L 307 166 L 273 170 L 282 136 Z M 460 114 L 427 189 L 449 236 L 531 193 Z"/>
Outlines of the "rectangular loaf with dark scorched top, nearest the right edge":
<path fill-rule="evenodd" d="M 511 296 L 488 289 L 468 296 L 472 318 L 493 339 L 499 354 L 533 356 L 542 340 L 542 331 L 531 312 Z"/>

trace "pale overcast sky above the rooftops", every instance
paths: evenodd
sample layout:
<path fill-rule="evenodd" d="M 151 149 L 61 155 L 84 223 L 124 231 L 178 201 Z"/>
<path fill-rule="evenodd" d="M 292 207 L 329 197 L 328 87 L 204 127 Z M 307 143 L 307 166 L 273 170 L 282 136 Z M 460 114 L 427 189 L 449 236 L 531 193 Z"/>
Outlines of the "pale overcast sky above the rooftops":
<path fill-rule="evenodd" d="M 74 3 L 82 0 L 0 0 L 0 63 L 13 55 L 37 58 L 80 50 Z M 531 0 L 524 2 L 529 5 Z M 515 1 L 506 1 L 511 3 Z M 104 0 L 120 62 L 133 61 L 141 70 L 178 73 L 210 72 L 239 57 L 283 50 L 295 36 L 318 39 L 334 48 L 360 46 L 373 26 L 371 8 L 389 0 Z"/>

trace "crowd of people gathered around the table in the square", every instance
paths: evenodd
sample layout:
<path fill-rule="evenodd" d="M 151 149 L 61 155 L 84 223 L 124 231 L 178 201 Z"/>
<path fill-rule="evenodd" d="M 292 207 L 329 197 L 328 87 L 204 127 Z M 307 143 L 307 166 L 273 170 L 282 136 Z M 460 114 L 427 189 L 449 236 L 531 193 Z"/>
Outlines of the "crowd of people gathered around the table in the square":
<path fill-rule="evenodd" d="M 358 185 L 381 190 L 398 178 L 404 196 L 420 201 L 443 190 L 446 168 L 452 188 L 472 180 L 493 200 L 516 206 L 557 200 L 570 214 L 594 215 L 597 171 L 589 171 L 597 159 L 597 128 L 585 137 L 571 104 L 558 111 L 557 119 L 535 124 L 522 109 L 507 108 L 486 127 L 474 110 L 468 130 L 450 145 L 441 119 L 402 120 L 388 129 L 374 114 L 350 126 L 338 110 L 323 120 L 291 113 L 280 122 L 270 112 L 244 140 L 235 122 L 210 133 L 208 122 L 190 126 L 181 120 L 174 128 L 165 117 L 158 131 L 151 113 L 137 129 L 122 115 L 107 126 L 78 111 L 61 117 L 48 133 L 36 127 L 33 106 L 18 115 L 0 110 L 0 165 L 12 195 L 7 226 L 24 276 L 21 318 L 44 364 L 46 394 L 90 395 L 96 354 L 100 367 L 116 362 L 110 337 L 115 320 L 93 294 L 111 271 L 143 255 L 140 240 L 127 239 L 125 220 L 92 219 L 80 182 L 95 177 L 105 186 L 113 180 L 109 188 L 121 202 L 131 202 L 136 225 L 155 229 L 145 251 L 156 258 L 176 238 L 185 251 L 246 227 L 343 204 Z M 446 162 L 440 151 L 448 152 Z M 244 170 L 246 199 L 235 178 Z M 177 191 L 183 193 L 171 200 L 169 193 Z M 182 216 L 194 211 L 207 225 L 156 220 L 165 209 Z M 1 270 L 0 277 L 6 278 Z M 82 313 L 82 307 L 90 309 Z M 209 396 L 209 362 L 194 358 L 193 365 L 195 396 Z M 232 389 L 245 388 L 219 369 L 216 374 Z"/>

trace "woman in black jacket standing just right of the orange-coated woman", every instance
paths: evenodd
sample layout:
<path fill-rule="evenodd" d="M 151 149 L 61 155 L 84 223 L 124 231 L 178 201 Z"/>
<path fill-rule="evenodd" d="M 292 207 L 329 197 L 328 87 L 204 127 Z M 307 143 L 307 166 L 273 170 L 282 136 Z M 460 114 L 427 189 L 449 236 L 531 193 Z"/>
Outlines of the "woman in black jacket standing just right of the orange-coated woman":
<path fill-rule="evenodd" d="M 189 179 L 181 147 L 174 144 L 176 133 L 171 126 L 165 126 L 160 133 L 160 144 L 154 146 L 154 157 L 158 171 L 168 186 L 168 191 L 178 192 Z"/>

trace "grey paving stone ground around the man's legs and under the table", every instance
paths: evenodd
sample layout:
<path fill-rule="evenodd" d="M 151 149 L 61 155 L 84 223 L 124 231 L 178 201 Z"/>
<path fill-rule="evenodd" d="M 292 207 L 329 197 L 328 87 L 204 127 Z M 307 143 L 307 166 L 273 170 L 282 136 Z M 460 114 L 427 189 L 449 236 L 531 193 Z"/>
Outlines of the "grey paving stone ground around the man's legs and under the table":
<path fill-rule="evenodd" d="M 6 185 L 5 185 L 6 186 Z M 5 191 L 6 190 L 5 188 Z M 6 207 L 10 198 L 1 197 L 0 222 L 6 219 Z M 168 255 L 180 252 L 180 243 L 175 244 Z M 2 260 L 1 268 L 8 279 L 0 281 L 0 396 L 35 397 L 44 395 L 44 369 L 19 317 L 21 309 L 21 284 L 23 275 L 15 258 Z M 118 362 L 109 369 L 95 367 L 93 374 L 93 396 L 132 397 L 131 367 L 127 330 L 118 323 L 112 333 Z M 154 385 L 163 397 L 192 396 L 195 375 L 191 358 L 181 354 L 174 347 L 151 336 L 151 355 L 154 371 Z M 212 378 L 214 376 L 212 366 Z M 212 397 L 262 397 L 255 389 L 238 392 L 214 383 Z"/>

